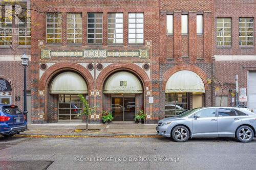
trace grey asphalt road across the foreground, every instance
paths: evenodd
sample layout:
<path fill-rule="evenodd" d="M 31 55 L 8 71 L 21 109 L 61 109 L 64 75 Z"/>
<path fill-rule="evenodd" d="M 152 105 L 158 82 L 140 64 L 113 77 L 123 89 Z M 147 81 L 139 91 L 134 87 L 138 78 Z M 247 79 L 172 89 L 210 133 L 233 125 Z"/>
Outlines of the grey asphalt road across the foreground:
<path fill-rule="evenodd" d="M 255 169 L 255 160 L 256 138 L 0 137 L 0 169 Z"/>

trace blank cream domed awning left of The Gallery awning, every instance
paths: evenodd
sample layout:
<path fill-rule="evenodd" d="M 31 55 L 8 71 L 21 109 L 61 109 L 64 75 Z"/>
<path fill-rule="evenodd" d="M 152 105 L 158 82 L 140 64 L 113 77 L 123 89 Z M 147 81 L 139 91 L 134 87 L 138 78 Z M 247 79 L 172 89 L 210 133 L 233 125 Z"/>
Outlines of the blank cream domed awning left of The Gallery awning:
<path fill-rule="evenodd" d="M 87 94 L 88 87 L 86 81 L 75 72 L 66 71 L 57 75 L 51 84 L 52 94 Z"/>

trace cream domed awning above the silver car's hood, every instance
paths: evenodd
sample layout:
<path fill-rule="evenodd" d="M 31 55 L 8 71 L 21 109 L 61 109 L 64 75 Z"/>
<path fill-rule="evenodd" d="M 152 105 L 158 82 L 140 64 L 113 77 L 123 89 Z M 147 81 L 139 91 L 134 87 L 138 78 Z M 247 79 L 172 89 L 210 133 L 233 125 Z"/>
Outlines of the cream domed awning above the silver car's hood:
<path fill-rule="evenodd" d="M 204 82 L 193 71 L 178 71 L 168 79 L 165 92 L 205 92 Z"/>

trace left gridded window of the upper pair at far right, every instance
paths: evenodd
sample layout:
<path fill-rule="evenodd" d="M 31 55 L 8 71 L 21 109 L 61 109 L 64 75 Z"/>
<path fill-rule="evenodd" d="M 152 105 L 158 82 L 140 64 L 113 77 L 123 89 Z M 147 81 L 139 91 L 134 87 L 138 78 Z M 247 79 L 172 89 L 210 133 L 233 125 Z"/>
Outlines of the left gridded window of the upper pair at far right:
<path fill-rule="evenodd" d="M 231 45 L 231 18 L 217 18 L 217 45 Z"/>

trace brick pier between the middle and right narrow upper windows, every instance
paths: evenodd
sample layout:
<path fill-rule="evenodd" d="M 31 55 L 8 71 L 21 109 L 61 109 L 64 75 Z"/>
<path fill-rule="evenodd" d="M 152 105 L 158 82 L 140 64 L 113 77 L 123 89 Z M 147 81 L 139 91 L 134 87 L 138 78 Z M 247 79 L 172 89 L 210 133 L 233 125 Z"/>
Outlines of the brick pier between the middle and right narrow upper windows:
<path fill-rule="evenodd" d="M 197 13 L 188 13 L 188 56 L 190 61 L 197 60 Z"/>

